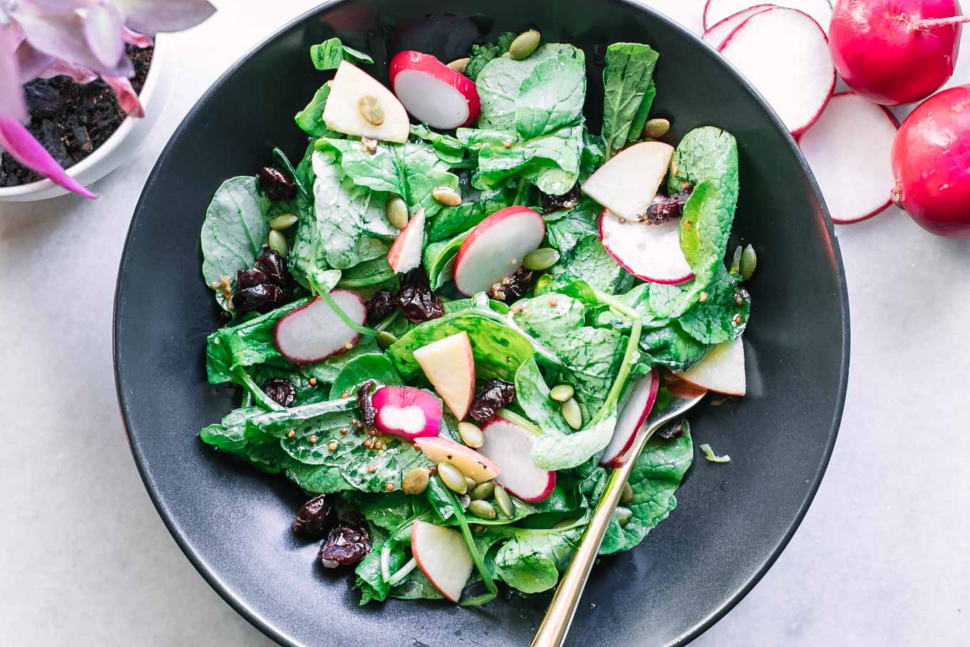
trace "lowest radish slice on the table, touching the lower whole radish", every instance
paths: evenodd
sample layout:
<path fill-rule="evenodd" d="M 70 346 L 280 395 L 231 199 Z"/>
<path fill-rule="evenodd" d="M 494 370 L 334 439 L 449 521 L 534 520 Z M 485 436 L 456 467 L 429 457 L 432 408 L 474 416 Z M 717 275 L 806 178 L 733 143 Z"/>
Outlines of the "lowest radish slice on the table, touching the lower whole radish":
<path fill-rule="evenodd" d="M 899 122 L 882 106 L 842 92 L 798 138 L 832 222 L 858 222 L 889 207 L 889 158 L 898 128 Z"/>

